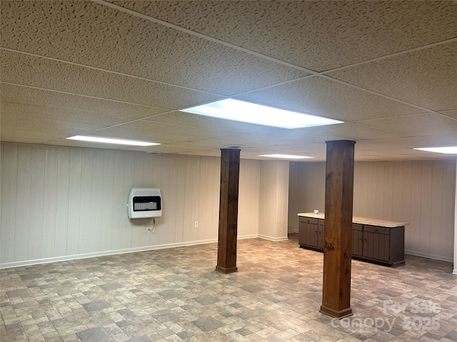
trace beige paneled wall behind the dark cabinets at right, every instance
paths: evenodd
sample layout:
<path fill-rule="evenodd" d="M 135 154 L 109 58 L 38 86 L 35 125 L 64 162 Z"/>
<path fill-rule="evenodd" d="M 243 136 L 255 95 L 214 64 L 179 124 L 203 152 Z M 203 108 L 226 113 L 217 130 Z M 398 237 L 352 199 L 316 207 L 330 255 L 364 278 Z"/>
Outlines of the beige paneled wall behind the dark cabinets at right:
<path fill-rule="evenodd" d="M 289 210 L 323 211 L 325 163 L 291 163 L 296 203 Z M 456 161 L 356 162 L 353 214 L 409 222 L 405 249 L 433 259 L 453 260 Z M 289 216 L 293 214 L 289 212 Z M 289 231 L 298 230 L 298 220 Z"/>

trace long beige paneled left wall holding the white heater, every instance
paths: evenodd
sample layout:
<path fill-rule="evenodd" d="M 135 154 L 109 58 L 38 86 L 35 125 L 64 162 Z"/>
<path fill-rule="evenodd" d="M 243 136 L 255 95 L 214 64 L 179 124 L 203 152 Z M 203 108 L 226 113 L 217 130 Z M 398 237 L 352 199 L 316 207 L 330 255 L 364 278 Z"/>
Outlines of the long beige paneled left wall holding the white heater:
<path fill-rule="evenodd" d="M 219 183 L 218 157 L 2 143 L 0 266 L 215 242 Z M 132 187 L 161 190 L 154 232 L 127 217 Z M 239 238 L 258 236 L 259 193 L 260 162 L 241 160 Z"/>

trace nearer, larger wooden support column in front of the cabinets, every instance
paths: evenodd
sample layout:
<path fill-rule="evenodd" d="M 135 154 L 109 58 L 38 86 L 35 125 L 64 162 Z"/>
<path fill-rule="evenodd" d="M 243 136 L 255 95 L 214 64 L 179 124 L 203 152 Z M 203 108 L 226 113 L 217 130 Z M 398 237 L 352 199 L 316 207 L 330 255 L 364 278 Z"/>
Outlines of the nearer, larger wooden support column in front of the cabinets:
<path fill-rule="evenodd" d="M 352 314 L 351 257 L 355 143 L 349 140 L 326 142 L 326 216 L 321 312 L 336 318 Z"/>

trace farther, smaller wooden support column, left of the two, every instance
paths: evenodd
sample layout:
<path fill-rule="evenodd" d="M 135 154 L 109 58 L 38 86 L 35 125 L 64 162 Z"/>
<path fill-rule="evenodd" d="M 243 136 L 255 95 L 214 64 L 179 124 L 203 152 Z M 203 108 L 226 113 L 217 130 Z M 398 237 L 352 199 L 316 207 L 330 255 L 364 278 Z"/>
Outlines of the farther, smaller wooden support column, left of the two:
<path fill-rule="evenodd" d="M 240 150 L 221 149 L 221 193 L 216 271 L 225 274 L 237 271 L 236 234 L 238 228 L 239 173 Z"/>

